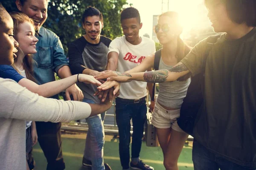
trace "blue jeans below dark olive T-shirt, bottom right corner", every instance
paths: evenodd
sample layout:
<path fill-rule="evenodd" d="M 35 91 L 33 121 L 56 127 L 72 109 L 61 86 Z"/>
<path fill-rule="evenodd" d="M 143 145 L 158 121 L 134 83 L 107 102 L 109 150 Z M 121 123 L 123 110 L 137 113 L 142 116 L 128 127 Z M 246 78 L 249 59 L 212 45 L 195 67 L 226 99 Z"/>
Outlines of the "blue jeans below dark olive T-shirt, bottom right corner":
<path fill-rule="evenodd" d="M 194 170 L 256 170 L 256 167 L 243 167 L 215 155 L 194 139 L 192 160 Z"/>

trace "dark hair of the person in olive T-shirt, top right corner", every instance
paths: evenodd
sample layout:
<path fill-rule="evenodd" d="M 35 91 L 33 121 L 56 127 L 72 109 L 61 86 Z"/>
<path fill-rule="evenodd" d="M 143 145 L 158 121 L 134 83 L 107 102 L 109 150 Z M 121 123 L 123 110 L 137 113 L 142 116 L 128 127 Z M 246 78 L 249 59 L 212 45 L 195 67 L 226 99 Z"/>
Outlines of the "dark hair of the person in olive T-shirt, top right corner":
<path fill-rule="evenodd" d="M 204 0 L 209 8 L 214 0 Z M 227 8 L 227 15 L 235 23 L 256 26 L 256 0 L 221 0 Z"/>

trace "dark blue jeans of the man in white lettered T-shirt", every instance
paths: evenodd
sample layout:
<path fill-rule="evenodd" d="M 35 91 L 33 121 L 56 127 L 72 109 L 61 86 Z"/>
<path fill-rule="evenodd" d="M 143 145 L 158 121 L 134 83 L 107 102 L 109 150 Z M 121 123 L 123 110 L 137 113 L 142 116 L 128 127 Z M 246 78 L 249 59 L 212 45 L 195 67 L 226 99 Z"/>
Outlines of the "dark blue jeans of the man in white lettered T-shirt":
<path fill-rule="evenodd" d="M 144 123 L 147 113 L 147 106 L 145 103 L 145 100 L 134 103 L 116 98 L 116 123 L 119 132 L 119 156 L 123 169 L 128 169 L 130 162 L 131 119 L 133 124 L 131 157 L 139 158 L 140 156 Z"/>

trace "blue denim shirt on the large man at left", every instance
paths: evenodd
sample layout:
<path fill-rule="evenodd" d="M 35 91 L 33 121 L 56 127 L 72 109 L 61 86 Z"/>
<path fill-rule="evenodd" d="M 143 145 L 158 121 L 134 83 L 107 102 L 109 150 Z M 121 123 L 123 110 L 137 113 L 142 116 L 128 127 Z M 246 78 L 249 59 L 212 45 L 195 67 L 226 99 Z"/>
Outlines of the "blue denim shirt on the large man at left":
<path fill-rule="evenodd" d="M 38 34 L 37 53 L 34 54 L 34 76 L 38 84 L 44 84 L 55 81 L 54 72 L 58 73 L 62 66 L 68 65 L 68 61 L 61 41 L 55 33 L 41 27 Z"/>

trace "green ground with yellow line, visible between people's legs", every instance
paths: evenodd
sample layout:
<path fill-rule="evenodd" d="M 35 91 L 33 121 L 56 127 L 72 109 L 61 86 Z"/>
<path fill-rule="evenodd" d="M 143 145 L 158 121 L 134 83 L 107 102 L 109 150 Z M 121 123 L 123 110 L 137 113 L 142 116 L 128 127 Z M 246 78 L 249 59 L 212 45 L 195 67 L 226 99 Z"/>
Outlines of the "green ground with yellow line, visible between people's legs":
<path fill-rule="evenodd" d="M 83 137 L 81 137 L 83 136 Z M 81 167 L 82 156 L 84 152 L 85 134 L 76 137 L 74 135 L 62 136 L 62 150 L 66 170 L 83 170 Z M 192 163 L 192 144 L 184 147 L 180 155 L 178 166 L 179 170 L 193 170 Z M 44 157 L 40 145 L 36 144 L 33 148 L 33 155 L 36 161 L 34 170 L 46 170 L 47 161 Z M 154 170 L 165 170 L 163 167 L 163 153 L 160 147 L 147 147 L 143 142 L 140 158 L 146 163 L 154 167 Z M 118 153 L 118 139 L 113 136 L 106 136 L 104 146 L 104 161 L 108 163 L 112 170 L 122 170 L 119 153 Z"/>

